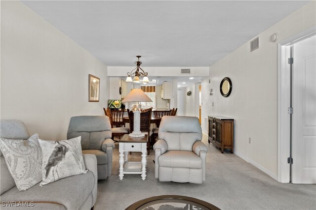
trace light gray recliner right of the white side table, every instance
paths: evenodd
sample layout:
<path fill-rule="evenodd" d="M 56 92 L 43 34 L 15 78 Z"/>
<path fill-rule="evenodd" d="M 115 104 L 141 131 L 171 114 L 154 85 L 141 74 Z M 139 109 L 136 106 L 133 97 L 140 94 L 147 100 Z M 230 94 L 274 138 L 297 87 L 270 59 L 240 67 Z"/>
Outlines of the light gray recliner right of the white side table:
<path fill-rule="evenodd" d="M 155 178 L 159 181 L 205 181 L 207 147 L 196 117 L 163 116 L 155 150 Z"/>

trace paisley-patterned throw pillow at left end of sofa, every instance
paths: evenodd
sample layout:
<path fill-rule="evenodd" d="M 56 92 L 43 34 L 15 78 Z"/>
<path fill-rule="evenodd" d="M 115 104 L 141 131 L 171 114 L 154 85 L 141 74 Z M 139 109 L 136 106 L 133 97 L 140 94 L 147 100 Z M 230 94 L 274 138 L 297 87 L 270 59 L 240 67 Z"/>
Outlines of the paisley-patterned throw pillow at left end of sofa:
<path fill-rule="evenodd" d="M 20 191 L 42 180 L 42 153 L 38 138 L 39 134 L 34 134 L 28 140 L 0 139 L 1 152 Z"/>

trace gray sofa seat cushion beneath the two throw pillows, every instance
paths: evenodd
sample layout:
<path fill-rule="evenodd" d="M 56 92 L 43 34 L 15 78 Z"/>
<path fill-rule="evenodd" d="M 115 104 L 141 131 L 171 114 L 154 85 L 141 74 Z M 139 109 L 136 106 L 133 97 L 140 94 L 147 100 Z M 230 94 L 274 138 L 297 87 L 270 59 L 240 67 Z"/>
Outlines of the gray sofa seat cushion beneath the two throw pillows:
<path fill-rule="evenodd" d="M 67 177 L 49 184 L 36 184 L 27 191 L 19 191 L 16 187 L 1 194 L 1 202 L 6 201 L 33 201 L 60 204 L 67 210 L 79 209 L 90 195 L 94 186 L 92 172 Z M 1 208 L 2 209 L 2 208 Z"/>

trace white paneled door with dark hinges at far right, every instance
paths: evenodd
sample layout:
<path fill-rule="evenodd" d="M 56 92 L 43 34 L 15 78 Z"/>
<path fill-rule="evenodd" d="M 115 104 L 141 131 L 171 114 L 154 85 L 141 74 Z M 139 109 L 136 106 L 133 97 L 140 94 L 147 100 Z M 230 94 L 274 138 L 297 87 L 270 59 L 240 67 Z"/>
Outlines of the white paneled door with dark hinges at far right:
<path fill-rule="evenodd" d="M 316 36 L 294 44 L 292 183 L 316 183 Z"/>

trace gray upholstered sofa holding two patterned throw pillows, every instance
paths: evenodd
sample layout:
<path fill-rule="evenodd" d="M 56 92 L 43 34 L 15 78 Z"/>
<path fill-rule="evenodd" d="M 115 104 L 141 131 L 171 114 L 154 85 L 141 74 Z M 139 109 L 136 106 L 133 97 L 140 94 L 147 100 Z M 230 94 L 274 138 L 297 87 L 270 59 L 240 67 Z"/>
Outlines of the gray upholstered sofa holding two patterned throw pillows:
<path fill-rule="evenodd" d="M 30 137 L 20 120 L 1 120 L 0 136 L 8 139 L 28 139 Z M 89 210 L 97 198 L 97 160 L 95 155 L 83 154 L 86 174 L 63 178 L 40 186 L 34 185 L 26 191 L 19 191 L 1 154 L 0 162 L 0 202 L 1 210 Z M 33 207 L 12 205 L 2 202 L 34 202 Z M 29 206 L 30 205 L 29 203 Z"/>

